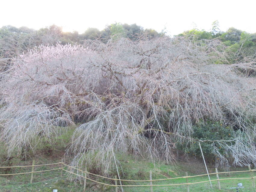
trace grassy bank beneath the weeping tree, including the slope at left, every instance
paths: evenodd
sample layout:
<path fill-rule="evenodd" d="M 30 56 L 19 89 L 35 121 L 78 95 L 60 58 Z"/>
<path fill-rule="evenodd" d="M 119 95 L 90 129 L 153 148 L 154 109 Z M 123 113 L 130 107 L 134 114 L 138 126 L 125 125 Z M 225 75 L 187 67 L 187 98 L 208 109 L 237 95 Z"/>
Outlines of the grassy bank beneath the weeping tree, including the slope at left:
<path fill-rule="evenodd" d="M 56 142 L 49 144 L 48 142 L 43 142 L 41 145 L 37 147 L 36 153 L 33 154 L 30 152 L 30 157 L 27 157 L 27 160 L 20 160 L 18 157 L 13 156 L 11 159 L 10 166 L 16 165 L 31 165 L 31 158 L 35 159 L 36 165 L 39 164 L 48 164 L 48 163 L 57 163 L 61 162 L 64 157 L 64 151 L 70 142 L 70 136 L 72 135 L 73 129 L 66 134 L 63 134 L 61 137 L 56 138 Z M 5 154 L 4 149 L 1 148 L 0 155 L 2 160 Z M 118 158 L 122 167 L 119 167 L 121 178 L 126 180 L 149 180 L 149 172 L 152 171 L 152 179 L 162 179 L 162 178 L 176 178 L 180 176 L 185 176 L 185 172 L 188 172 L 188 175 L 200 175 L 205 174 L 205 168 L 201 159 L 191 158 L 188 161 L 185 159 L 180 159 L 174 165 L 165 165 L 164 163 L 151 163 L 145 159 L 133 159 L 131 156 L 127 156 L 127 158 L 122 159 Z M 0 162 L 1 166 L 6 166 L 4 162 Z M 68 162 L 67 162 L 68 163 Z M 57 169 L 61 167 L 61 165 L 51 165 L 51 166 L 40 166 L 35 167 L 35 171 L 46 170 L 46 169 Z M 65 168 L 67 169 L 67 168 Z M 212 168 L 210 168 L 212 170 Z M 241 171 L 248 170 L 247 167 L 231 167 L 230 171 Z M 1 170 L 0 170 L 1 171 Z M 20 172 L 30 172 L 31 167 L 24 168 L 11 168 L 8 170 L 8 173 L 20 173 Z M 89 170 L 93 172 L 94 170 Z M 223 170 L 219 169 L 219 172 Z M 2 173 L 4 174 L 3 170 Z M 256 175 L 256 173 L 254 173 Z M 114 175 L 110 175 L 109 177 L 114 178 Z M 241 172 L 241 173 L 230 173 L 220 174 L 220 178 L 248 178 L 250 177 L 249 172 Z M 107 179 L 97 178 L 95 176 L 90 176 L 96 181 L 114 184 L 114 182 L 109 181 Z M 216 179 L 216 175 L 211 175 L 211 179 Z M 207 181 L 208 176 L 200 176 L 189 178 L 188 182 L 199 182 L 199 181 Z M 153 181 L 153 184 L 179 184 L 185 183 L 185 178 L 178 178 L 173 180 L 166 181 Z M 220 181 L 221 191 L 236 191 L 235 189 L 229 189 L 229 187 L 236 187 L 237 183 L 242 182 L 244 187 L 241 191 L 253 192 L 255 188 L 251 186 L 251 179 L 236 179 L 236 180 L 222 180 Z M 255 179 L 256 182 L 256 179 Z M 148 185 L 149 182 L 122 182 L 123 185 Z M 212 182 L 213 189 L 211 189 L 211 185 L 209 182 L 191 184 L 189 185 L 190 192 L 197 191 L 219 191 L 217 188 L 217 181 Z M 68 178 L 67 172 L 63 172 L 63 177 L 61 178 L 61 171 L 49 171 L 49 172 L 41 172 L 34 173 L 33 175 L 33 183 L 30 184 L 30 174 L 25 175 L 11 175 L 11 176 L 0 176 L 0 192 L 27 192 L 27 191 L 46 191 L 51 192 L 53 189 L 58 189 L 60 192 L 77 192 L 83 191 L 83 179 L 73 178 L 70 180 Z M 120 190 L 120 188 L 119 188 Z M 150 191 L 149 187 L 123 187 L 125 192 L 144 192 Z M 86 191 L 114 191 L 114 187 L 104 187 L 101 184 L 96 184 L 92 181 L 87 180 Z M 176 186 L 155 186 L 153 187 L 154 192 L 164 192 L 164 191 L 187 191 L 186 185 L 176 185 Z"/>

